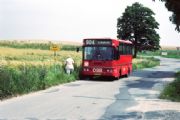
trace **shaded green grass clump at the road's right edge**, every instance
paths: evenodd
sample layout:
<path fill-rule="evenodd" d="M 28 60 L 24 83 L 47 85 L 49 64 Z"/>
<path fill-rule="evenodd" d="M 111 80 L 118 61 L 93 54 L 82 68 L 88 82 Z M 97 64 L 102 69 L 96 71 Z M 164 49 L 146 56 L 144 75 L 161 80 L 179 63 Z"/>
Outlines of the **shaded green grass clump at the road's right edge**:
<path fill-rule="evenodd" d="M 180 71 L 175 74 L 175 80 L 164 88 L 160 98 L 180 102 Z"/>

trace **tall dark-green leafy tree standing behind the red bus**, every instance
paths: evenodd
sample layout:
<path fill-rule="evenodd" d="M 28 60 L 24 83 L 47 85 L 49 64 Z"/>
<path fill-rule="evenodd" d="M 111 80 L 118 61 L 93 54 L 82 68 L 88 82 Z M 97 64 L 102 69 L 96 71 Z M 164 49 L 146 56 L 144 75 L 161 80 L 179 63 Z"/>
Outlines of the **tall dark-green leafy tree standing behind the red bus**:
<path fill-rule="evenodd" d="M 159 24 L 153 17 L 154 12 L 136 2 L 128 6 L 117 21 L 117 37 L 130 40 L 134 44 L 134 57 L 141 50 L 157 50 L 159 46 Z"/>

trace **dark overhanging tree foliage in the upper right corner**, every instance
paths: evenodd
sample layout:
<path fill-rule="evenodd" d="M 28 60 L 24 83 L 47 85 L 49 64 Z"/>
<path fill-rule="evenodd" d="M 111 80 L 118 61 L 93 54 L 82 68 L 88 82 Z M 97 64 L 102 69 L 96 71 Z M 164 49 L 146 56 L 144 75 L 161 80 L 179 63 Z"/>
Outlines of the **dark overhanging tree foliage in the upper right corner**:
<path fill-rule="evenodd" d="M 180 32 L 180 0 L 160 0 L 160 1 L 165 2 L 166 8 L 173 13 L 172 16 L 170 17 L 170 21 L 176 25 L 175 30 Z"/>

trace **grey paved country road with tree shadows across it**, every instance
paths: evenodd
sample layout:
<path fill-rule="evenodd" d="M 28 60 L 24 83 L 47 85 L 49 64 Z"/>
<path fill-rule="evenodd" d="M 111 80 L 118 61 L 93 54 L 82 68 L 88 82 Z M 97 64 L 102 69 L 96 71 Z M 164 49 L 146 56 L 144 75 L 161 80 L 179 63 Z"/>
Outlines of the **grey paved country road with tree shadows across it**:
<path fill-rule="evenodd" d="M 80 80 L 0 101 L 0 120 L 179 120 L 180 103 L 158 99 L 180 60 L 116 81 Z"/>

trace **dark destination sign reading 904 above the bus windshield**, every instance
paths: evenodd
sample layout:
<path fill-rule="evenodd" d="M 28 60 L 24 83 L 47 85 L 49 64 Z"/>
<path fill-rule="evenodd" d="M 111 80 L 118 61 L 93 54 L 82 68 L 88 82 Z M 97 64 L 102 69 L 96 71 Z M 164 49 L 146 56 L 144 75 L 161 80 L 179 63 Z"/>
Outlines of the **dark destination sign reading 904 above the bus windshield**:
<path fill-rule="evenodd" d="M 87 39 L 85 40 L 86 45 L 112 45 L 110 40 L 97 40 L 97 39 Z"/>

